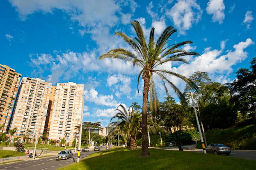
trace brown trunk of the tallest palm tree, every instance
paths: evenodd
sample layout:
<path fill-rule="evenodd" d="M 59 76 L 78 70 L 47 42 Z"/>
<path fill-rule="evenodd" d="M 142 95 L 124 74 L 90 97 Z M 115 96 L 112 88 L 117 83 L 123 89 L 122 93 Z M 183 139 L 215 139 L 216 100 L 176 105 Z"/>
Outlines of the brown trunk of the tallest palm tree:
<path fill-rule="evenodd" d="M 143 77 L 142 77 L 143 78 Z M 147 140 L 147 118 L 148 118 L 148 90 L 149 90 L 149 78 L 144 77 L 143 88 L 143 105 L 142 105 L 142 151 L 141 156 L 148 157 L 148 140 Z"/>

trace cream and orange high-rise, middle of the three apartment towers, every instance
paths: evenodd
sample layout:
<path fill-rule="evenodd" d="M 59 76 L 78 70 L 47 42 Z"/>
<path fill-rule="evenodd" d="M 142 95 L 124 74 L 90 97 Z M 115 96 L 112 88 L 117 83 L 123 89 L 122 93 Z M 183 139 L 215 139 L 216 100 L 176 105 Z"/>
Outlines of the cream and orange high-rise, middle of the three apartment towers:
<path fill-rule="evenodd" d="M 11 129 L 17 128 L 16 136 L 35 142 L 38 131 L 43 135 L 51 91 L 52 83 L 22 78 L 11 119 Z"/>

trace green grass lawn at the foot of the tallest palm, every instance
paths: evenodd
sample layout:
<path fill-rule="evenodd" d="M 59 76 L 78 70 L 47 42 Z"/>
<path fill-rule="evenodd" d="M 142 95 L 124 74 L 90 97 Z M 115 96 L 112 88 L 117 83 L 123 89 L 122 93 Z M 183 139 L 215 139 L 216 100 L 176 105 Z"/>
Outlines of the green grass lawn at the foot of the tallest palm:
<path fill-rule="evenodd" d="M 135 151 L 115 148 L 94 153 L 79 163 L 61 170 L 80 169 L 255 169 L 256 161 L 230 156 L 203 154 L 185 151 L 149 149 L 150 157 L 140 157 L 141 149 Z"/>

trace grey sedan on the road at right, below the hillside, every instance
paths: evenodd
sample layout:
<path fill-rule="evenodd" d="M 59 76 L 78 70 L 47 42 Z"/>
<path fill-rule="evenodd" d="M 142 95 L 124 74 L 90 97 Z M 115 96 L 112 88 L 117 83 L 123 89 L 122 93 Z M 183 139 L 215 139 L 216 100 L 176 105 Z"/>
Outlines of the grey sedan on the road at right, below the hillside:
<path fill-rule="evenodd" d="M 228 146 L 221 143 L 211 143 L 205 149 L 207 153 L 213 153 L 214 155 L 217 155 L 217 154 L 229 155 L 231 152 Z"/>

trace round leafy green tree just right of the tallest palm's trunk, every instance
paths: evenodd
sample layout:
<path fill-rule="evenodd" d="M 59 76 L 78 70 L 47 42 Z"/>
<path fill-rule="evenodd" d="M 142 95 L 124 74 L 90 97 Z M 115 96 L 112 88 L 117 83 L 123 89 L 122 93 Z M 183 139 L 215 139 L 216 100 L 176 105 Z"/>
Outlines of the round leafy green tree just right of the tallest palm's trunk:
<path fill-rule="evenodd" d="M 189 110 L 186 106 L 175 103 L 174 98 L 171 96 L 164 99 L 165 101 L 160 103 L 159 111 L 159 116 L 163 121 L 162 125 L 171 133 L 172 138 L 179 147 L 179 151 L 183 151 L 181 148 L 182 129 L 188 125 Z"/>

